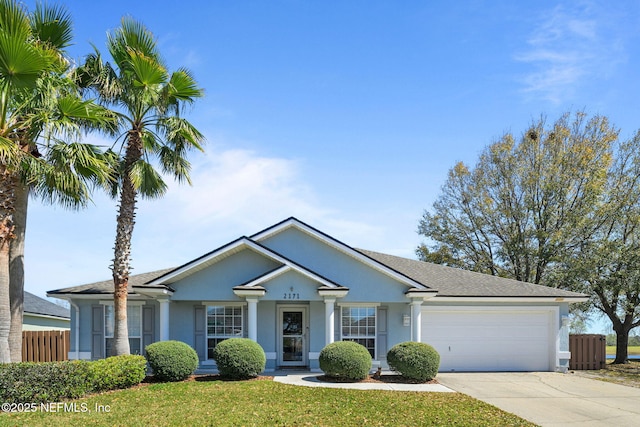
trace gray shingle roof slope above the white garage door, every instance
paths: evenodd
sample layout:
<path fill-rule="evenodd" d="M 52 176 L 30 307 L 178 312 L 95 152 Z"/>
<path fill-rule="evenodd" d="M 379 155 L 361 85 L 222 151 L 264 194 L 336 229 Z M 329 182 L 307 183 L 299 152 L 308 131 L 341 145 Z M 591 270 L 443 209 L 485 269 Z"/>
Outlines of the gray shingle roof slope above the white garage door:
<path fill-rule="evenodd" d="M 504 277 L 476 273 L 379 252 L 357 249 L 360 253 L 436 289 L 438 297 L 556 297 L 582 298 L 583 294 L 534 285 Z"/>

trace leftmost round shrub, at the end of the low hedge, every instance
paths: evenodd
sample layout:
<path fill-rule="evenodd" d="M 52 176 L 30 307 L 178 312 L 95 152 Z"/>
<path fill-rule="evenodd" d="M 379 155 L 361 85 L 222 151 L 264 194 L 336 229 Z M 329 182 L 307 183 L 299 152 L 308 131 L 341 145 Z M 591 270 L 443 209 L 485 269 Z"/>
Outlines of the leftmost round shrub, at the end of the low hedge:
<path fill-rule="evenodd" d="M 181 341 L 159 341 L 149 344 L 147 354 L 153 376 L 160 381 L 182 381 L 198 367 L 198 354 Z"/>

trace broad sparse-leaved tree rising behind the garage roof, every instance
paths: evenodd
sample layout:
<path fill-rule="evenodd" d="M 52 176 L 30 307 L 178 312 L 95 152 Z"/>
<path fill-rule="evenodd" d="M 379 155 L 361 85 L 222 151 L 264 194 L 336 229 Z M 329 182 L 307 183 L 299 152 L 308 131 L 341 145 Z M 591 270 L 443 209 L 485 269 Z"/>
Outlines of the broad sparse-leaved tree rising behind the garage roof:
<path fill-rule="evenodd" d="M 510 133 L 487 147 L 475 168 L 456 164 L 425 211 L 425 261 L 551 284 L 549 269 L 593 233 L 618 132 L 605 117 L 540 119 L 516 143 Z"/>

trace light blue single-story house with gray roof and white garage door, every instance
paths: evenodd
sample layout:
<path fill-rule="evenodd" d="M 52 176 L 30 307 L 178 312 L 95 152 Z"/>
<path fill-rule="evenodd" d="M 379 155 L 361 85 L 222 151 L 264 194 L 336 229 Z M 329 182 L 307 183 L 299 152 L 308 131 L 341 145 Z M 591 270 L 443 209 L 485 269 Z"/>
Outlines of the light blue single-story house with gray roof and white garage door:
<path fill-rule="evenodd" d="M 316 370 L 336 340 L 365 346 L 376 364 L 403 341 L 433 345 L 441 371 L 568 367 L 569 304 L 582 294 L 354 249 L 297 220 L 241 237 L 178 268 L 129 281 L 131 351 L 179 340 L 215 370 L 231 337 L 257 341 L 267 370 Z M 58 289 L 70 301 L 71 359 L 109 356 L 113 283 Z"/>

